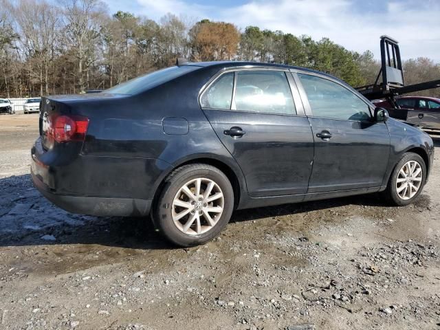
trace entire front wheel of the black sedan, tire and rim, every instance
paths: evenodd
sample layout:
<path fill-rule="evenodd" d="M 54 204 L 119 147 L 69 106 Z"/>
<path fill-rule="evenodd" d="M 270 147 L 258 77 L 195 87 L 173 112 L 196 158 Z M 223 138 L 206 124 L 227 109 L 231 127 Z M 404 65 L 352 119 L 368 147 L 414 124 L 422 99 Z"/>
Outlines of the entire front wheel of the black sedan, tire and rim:
<path fill-rule="evenodd" d="M 405 206 L 419 197 L 426 180 L 426 164 L 417 153 L 405 153 L 388 182 L 387 195 L 397 206 Z"/>

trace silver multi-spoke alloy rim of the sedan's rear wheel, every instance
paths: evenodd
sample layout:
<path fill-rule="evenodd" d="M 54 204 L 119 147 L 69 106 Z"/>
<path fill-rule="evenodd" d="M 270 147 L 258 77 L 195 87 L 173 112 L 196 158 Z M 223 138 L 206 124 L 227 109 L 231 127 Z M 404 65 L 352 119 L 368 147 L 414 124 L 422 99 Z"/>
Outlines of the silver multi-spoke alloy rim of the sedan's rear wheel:
<path fill-rule="evenodd" d="M 171 215 L 181 232 L 200 235 L 217 224 L 223 213 L 224 202 L 223 192 L 214 181 L 192 179 L 177 191 Z"/>

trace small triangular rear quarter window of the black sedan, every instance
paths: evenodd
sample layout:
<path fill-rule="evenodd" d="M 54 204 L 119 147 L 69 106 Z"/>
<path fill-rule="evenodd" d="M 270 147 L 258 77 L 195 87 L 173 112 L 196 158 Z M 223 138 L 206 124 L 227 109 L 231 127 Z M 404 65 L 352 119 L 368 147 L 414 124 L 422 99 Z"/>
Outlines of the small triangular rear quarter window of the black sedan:
<path fill-rule="evenodd" d="M 203 92 L 200 104 L 202 108 L 231 109 L 232 89 L 234 89 L 234 73 L 223 74 Z"/>

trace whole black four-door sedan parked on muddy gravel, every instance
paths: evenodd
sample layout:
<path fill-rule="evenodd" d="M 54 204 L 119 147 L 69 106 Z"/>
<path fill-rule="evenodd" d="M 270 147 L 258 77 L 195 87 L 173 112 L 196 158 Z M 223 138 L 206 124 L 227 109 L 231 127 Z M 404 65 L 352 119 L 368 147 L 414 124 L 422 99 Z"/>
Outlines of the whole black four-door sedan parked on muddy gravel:
<path fill-rule="evenodd" d="M 70 212 L 146 216 L 206 243 L 235 209 L 384 192 L 414 201 L 431 138 L 320 72 L 186 63 L 96 94 L 42 99 L 32 180 Z"/>

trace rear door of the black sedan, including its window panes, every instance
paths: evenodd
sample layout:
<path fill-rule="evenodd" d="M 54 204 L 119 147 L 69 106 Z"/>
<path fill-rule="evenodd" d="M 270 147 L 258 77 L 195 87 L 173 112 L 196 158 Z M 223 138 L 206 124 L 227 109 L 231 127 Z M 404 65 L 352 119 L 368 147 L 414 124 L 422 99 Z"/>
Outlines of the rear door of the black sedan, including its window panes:
<path fill-rule="evenodd" d="M 223 72 L 200 103 L 243 170 L 250 196 L 307 192 L 314 139 L 289 72 L 262 67 Z"/>

